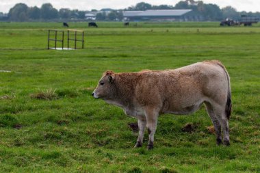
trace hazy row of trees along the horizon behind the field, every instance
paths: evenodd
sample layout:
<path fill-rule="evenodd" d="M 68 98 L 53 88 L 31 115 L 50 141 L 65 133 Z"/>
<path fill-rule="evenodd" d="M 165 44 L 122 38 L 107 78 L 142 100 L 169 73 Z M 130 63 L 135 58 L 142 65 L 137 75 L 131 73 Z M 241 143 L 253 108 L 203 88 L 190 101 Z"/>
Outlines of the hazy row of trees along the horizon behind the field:
<path fill-rule="evenodd" d="M 190 21 L 221 21 L 224 18 L 233 18 L 238 20 L 241 15 L 257 16 L 260 18 L 260 13 L 252 12 L 237 12 L 235 8 L 227 6 L 220 9 L 216 4 L 203 3 L 203 1 L 185 0 L 179 1 L 176 5 L 151 5 L 149 3 L 137 3 L 129 8 L 122 10 L 112 10 L 108 14 L 99 12 L 96 14 L 97 21 L 122 21 L 122 11 L 124 10 L 177 10 L 191 9 L 189 12 Z M 97 10 L 92 10 L 96 12 Z M 7 16 L 0 15 L 1 21 L 77 21 L 86 20 L 87 11 L 70 10 L 62 8 L 57 10 L 53 8 L 51 3 L 44 3 L 40 8 L 28 7 L 25 3 L 17 3 L 10 9 Z M 3 13 L 0 13 L 3 14 Z"/>

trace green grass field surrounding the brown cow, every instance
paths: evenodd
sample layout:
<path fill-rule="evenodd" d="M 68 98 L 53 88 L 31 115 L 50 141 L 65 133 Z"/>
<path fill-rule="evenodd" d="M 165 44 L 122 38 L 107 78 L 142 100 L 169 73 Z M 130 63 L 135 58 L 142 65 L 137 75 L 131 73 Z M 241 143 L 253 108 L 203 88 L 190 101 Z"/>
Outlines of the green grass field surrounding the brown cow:
<path fill-rule="evenodd" d="M 69 23 L 85 49 L 47 50 L 60 23 L 0 23 L 0 172 L 260 172 L 260 25 Z M 155 148 L 137 122 L 91 93 L 105 70 L 220 60 L 231 76 L 231 146 L 216 146 L 205 107 L 159 117 Z M 192 124 L 192 132 L 183 131 Z"/>

